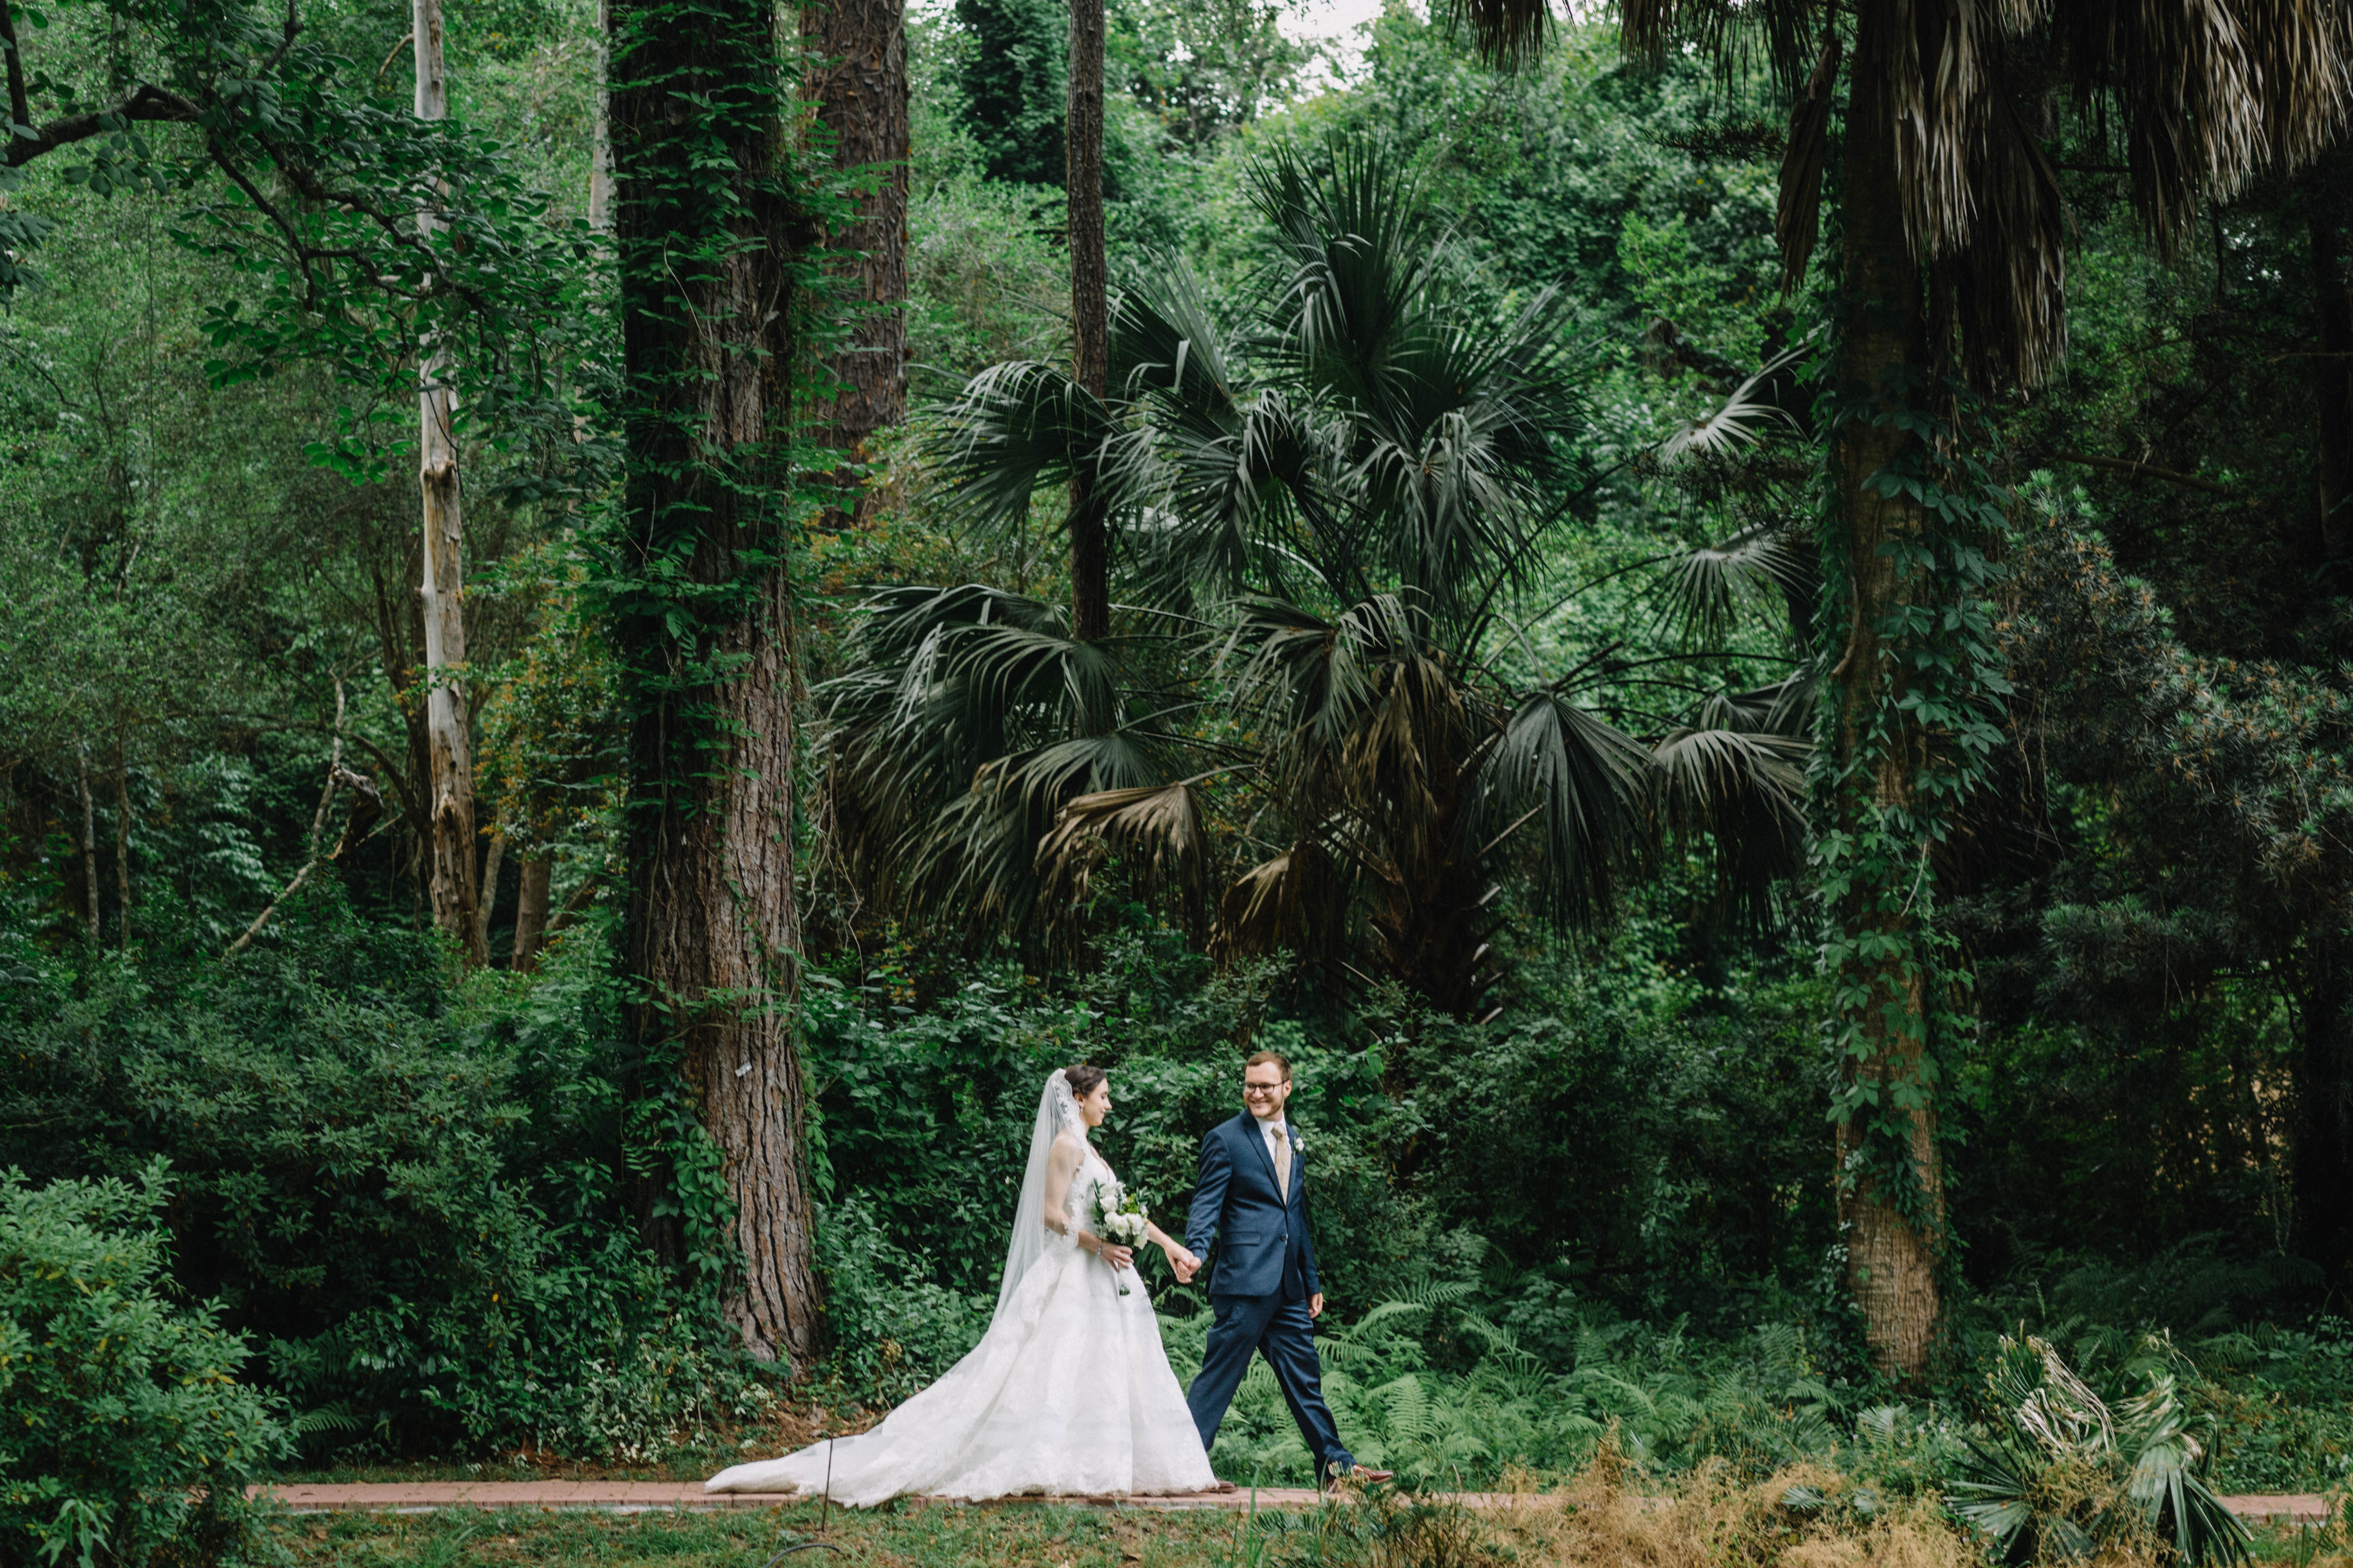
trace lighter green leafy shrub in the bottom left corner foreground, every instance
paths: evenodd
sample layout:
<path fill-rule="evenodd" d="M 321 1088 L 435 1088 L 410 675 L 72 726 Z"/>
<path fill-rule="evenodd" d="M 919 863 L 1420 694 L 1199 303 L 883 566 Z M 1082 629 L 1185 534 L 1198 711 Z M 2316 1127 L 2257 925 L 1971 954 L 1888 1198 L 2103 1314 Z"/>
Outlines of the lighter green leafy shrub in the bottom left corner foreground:
<path fill-rule="evenodd" d="M 216 1563 L 287 1450 L 245 1338 L 165 1300 L 165 1161 L 136 1185 L 0 1175 L 0 1556 Z"/>

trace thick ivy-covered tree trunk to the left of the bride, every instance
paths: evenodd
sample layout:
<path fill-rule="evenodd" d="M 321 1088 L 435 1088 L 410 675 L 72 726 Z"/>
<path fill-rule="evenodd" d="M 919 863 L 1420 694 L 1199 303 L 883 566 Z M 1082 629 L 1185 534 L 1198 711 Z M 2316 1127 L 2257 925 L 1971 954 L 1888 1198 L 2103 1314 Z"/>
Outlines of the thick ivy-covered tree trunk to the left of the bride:
<path fill-rule="evenodd" d="M 755 1354 L 819 1335 L 805 1086 L 788 1032 L 793 623 L 786 548 L 793 207 L 779 14 L 762 0 L 612 2 L 628 480 L 609 597 L 631 717 L 626 964 L 633 1093 L 675 1072 L 722 1157 L 725 1312 Z M 675 583 L 675 588 L 671 588 Z M 671 1154 L 685 1154 L 673 1145 Z M 687 1182 L 671 1192 L 694 1208 Z M 652 1215 L 649 1215 L 652 1220 Z M 656 1225 L 656 1241 L 661 1229 Z"/>

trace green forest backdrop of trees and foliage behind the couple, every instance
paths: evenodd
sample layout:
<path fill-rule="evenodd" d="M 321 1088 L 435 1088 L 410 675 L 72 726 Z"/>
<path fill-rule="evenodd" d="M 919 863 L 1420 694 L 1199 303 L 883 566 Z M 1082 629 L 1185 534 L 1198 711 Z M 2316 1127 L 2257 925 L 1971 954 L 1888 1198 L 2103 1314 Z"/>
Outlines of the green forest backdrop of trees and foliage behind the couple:
<path fill-rule="evenodd" d="M 66 108 L 167 54 L 167 28 L 141 33 L 132 12 L 9 16 L 56 73 L 33 94 Z M 911 418 L 831 444 L 816 411 L 875 310 L 807 244 L 788 308 L 802 350 L 774 369 L 800 458 L 772 487 L 772 555 L 746 550 L 784 583 L 793 628 L 769 701 L 795 719 L 769 755 L 791 773 L 798 954 L 772 1013 L 776 1072 L 805 1095 L 776 1147 L 784 1185 L 807 1192 L 779 1213 L 807 1222 L 814 1258 L 762 1326 L 744 1305 L 734 1147 L 706 1131 L 692 1060 L 656 1048 L 699 1025 L 647 1023 L 668 1004 L 631 914 L 664 832 L 642 827 L 647 780 L 727 771 L 647 764 L 661 698 L 642 623 L 734 611 L 666 599 L 616 543 L 635 536 L 612 517 L 649 473 L 626 428 L 647 383 L 616 324 L 638 308 L 642 235 L 624 216 L 602 237 L 598 212 L 600 21 L 452 0 L 461 129 L 414 158 L 381 129 L 407 118 L 409 16 L 341 5 L 308 14 L 304 40 L 339 61 L 315 80 L 341 73 L 348 118 L 318 129 L 322 96 L 306 134 L 409 181 L 384 190 L 447 190 L 464 155 L 471 205 L 445 223 L 459 242 L 431 252 L 428 235 L 407 294 L 367 294 L 398 268 L 365 240 L 336 270 L 334 223 L 365 228 L 365 197 L 308 190 L 289 162 L 278 183 L 200 179 L 188 169 L 233 160 L 191 150 L 205 132 L 186 125 L 122 118 L 0 186 L 0 1164 L 16 1237 L 132 1237 L 106 1255 L 136 1253 L 125 1279 L 158 1302 L 207 1302 L 231 1338 L 205 1354 L 278 1422 L 278 1462 L 692 1462 L 755 1441 L 788 1401 L 885 1406 L 974 1342 L 1054 1065 L 1113 1067 L 1104 1145 L 1176 1211 L 1242 1051 L 1280 1046 L 1313 1143 L 1334 1403 L 1365 1458 L 1492 1479 L 1577 1467 L 1614 1429 L 1666 1469 L 1774 1465 L 1871 1432 L 1929 1474 L 1988 1418 L 1998 1338 L 2033 1333 L 2115 1392 L 2177 1378 L 2219 1488 L 2344 1483 L 2353 1204 L 2322 1112 L 2353 1084 L 2332 882 L 2353 736 L 2344 541 L 2315 505 L 2344 456 L 2329 421 L 2353 350 L 2341 153 L 2247 179 L 2160 256 L 2108 129 L 2059 132 L 2071 350 L 2033 395 L 1951 402 L 1946 449 L 1995 496 L 1986 574 L 1953 607 L 1979 616 L 2000 677 L 1969 792 L 1920 851 L 1915 896 L 1944 943 L 1939 1208 L 1920 1225 L 1937 1309 L 1925 1356 L 1901 1363 L 1859 1305 L 1849 1199 L 1868 1178 L 1835 1133 L 1857 1079 L 1824 959 L 1828 785 L 1802 752 L 1807 670 L 1828 668 L 1842 625 L 1814 604 L 1835 611 L 1835 581 L 1809 545 L 1826 371 L 1807 355 L 1835 280 L 1781 287 L 1788 103 L 1692 52 L 1626 56 L 1614 24 L 1565 24 L 1504 71 L 1442 19 L 1391 7 L 1334 80 L 1280 21 L 1242 0 L 1108 7 L 1113 317 L 1139 331 L 1134 301 L 1191 299 L 1238 324 L 1238 355 L 1275 362 L 1289 350 L 1266 336 L 1266 280 L 1297 240 L 1285 169 L 1325 214 L 1353 176 L 1388 193 L 1409 275 L 1395 299 L 1459 329 L 1449 343 L 1525 348 L 1515 386 L 1553 400 L 1548 444 L 1513 470 L 1541 491 L 1541 527 L 1508 571 L 1487 559 L 1515 621 L 1473 616 L 1449 665 L 1487 670 L 1508 701 L 1461 703 L 1537 712 L 1520 693 L 1544 691 L 1544 712 L 1638 738 L 1626 755 L 1562 743 L 1600 771 L 1560 785 L 1569 809 L 1555 799 L 1544 846 L 1511 820 L 1473 832 L 1468 806 L 1440 820 L 1478 849 L 1445 863 L 1475 886 L 1417 914 L 1459 938 L 1452 957 L 1407 943 L 1402 905 L 1360 884 L 1289 889 L 1313 910 L 1259 919 L 1252 886 L 1275 882 L 1249 865 L 1282 832 L 1381 830 L 1348 818 L 1344 769 L 1318 773 L 1329 757 L 1252 750 L 1304 698 L 1266 696 L 1198 574 L 1146 609 L 1115 604 L 1129 651 L 1101 682 L 1129 717 L 1087 717 L 1101 637 L 1054 621 L 1080 534 L 1068 454 L 1000 480 L 1016 491 L 1002 515 L 976 505 L 974 433 L 1019 440 L 986 423 L 1009 404 L 967 393 L 1009 386 L 974 381 L 991 367 L 1073 355 L 1068 19 L 1042 0 L 913 12 Z M 793 110 L 816 153 L 774 186 L 800 193 L 802 237 L 889 183 L 826 174 L 814 120 Z M 299 261 L 273 249 L 271 193 L 325 214 Z M 473 315 L 414 303 L 442 299 L 435 268 L 473 289 Z M 475 376 L 456 381 L 454 444 L 466 656 L 440 682 L 407 480 L 419 343 Z M 1146 404 L 1120 418 L 1151 423 Z M 1024 407 L 1035 423 L 1071 404 Z M 1122 538 L 1125 595 L 1158 557 L 1151 529 Z M 1398 583 L 1417 567 L 1365 550 L 1367 581 L 1412 607 Z M 1327 564 L 1311 576 L 1339 581 Z M 960 585 L 965 609 L 941 609 L 934 590 Z M 1028 642 L 958 654 L 941 628 L 984 599 L 1028 616 Z M 960 691 L 962 717 L 932 731 L 889 729 L 908 712 L 894 693 L 939 670 L 911 637 L 953 665 L 944 686 L 1014 689 L 1031 729 L 1007 741 L 991 710 L 998 750 L 974 741 L 986 691 Z M 732 679 L 680 668 L 680 689 Z M 435 860 L 435 691 L 461 696 L 471 771 L 461 903 Z M 1132 722 L 1153 693 L 1181 717 Z M 739 733 L 694 722 L 696 745 Z M 1085 750 L 1139 733 L 1207 762 L 1169 795 L 1174 762 L 1120 773 Z M 1689 762 L 1694 736 L 1746 750 L 1718 778 Z M 875 764 L 915 743 L 960 776 Z M 1635 752 L 1668 759 L 1657 788 L 1612 783 Z M 972 783 L 1040 755 L 1080 762 L 1049 785 L 1021 766 L 995 773 L 1028 778 L 1012 790 Z M 1315 790 L 1341 804 L 1304 806 Z M 1075 799 L 1094 837 L 1054 839 Z M 1139 802 L 1181 820 L 1104 820 Z M 1579 809 L 1598 825 L 1555 823 Z M 661 842 L 692 827 L 678 835 Z M 1409 851 L 1365 858 L 1381 856 Z M 1240 893 L 1219 893 L 1233 877 Z M 38 1246 L 7 1274 L 26 1300 Z M 1151 1284 L 1174 1356 L 1198 1356 L 1202 1298 Z M 751 1356 L 746 1338 L 786 1354 Z M 788 1392 L 786 1371 L 812 1382 Z M 1245 1389 L 1217 1462 L 1304 1472 L 1271 1387 Z"/>

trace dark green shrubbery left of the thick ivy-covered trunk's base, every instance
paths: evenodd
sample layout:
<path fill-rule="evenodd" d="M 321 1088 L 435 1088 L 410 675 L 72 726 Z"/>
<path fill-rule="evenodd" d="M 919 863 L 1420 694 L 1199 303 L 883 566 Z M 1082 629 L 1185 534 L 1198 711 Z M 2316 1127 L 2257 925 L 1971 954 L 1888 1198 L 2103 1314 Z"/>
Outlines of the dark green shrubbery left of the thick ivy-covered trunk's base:
<path fill-rule="evenodd" d="M 322 1443 L 647 1458 L 767 1375 L 638 1239 L 605 952 L 454 980 L 329 889 L 268 950 L 99 961 L 0 1004 L 0 1161 L 167 1157 L 174 1279 Z M 21 1001 L 21 1004 L 19 1004 Z"/>

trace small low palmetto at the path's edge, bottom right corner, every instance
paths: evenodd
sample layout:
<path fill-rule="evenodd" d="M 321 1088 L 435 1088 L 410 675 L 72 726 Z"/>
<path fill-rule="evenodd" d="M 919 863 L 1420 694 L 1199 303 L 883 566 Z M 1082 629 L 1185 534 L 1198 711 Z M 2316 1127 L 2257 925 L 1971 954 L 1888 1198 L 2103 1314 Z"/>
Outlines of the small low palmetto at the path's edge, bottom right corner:
<path fill-rule="evenodd" d="M 2002 1427 L 1972 1439 L 1953 1512 L 2009 1563 L 2094 1556 L 2153 1540 L 2193 1568 L 2247 1556 L 2247 1528 L 2198 1474 L 2191 1415 L 2160 1342 L 2132 1399 L 2108 1406 L 2038 1338 L 2000 1345 L 1986 1389 Z"/>

